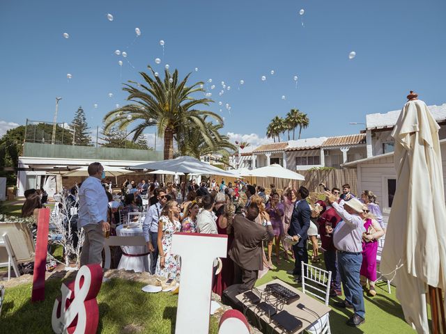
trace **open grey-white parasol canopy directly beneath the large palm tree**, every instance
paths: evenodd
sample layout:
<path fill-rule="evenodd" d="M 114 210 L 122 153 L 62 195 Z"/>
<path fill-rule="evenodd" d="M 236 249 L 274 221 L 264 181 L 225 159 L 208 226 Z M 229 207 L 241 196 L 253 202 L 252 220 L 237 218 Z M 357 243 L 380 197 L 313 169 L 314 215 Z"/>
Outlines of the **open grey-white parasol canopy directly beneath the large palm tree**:
<path fill-rule="evenodd" d="M 132 166 L 135 169 L 155 169 L 155 170 L 167 170 L 174 173 L 185 174 L 197 174 L 197 175 L 222 175 L 229 177 L 238 177 L 238 175 L 226 170 L 214 167 L 206 162 L 199 161 L 194 157 L 178 157 L 176 159 L 168 159 L 163 161 L 148 162 L 146 164 L 140 164 Z"/>

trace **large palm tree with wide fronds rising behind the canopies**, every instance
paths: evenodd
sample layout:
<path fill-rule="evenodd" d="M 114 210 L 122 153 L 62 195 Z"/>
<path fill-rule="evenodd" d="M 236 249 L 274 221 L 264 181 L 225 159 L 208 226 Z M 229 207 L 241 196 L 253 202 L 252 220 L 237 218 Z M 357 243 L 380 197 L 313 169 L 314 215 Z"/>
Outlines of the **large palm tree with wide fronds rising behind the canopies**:
<path fill-rule="evenodd" d="M 178 138 L 183 138 L 183 134 L 190 127 L 195 130 L 195 135 L 201 140 L 212 145 L 212 138 L 206 129 L 205 116 L 213 118 L 223 124 L 222 118 L 211 111 L 200 110 L 199 106 L 208 106 L 213 100 L 196 99 L 192 97 L 194 93 L 204 92 L 199 88 L 202 82 L 197 82 L 187 86 L 187 79 L 190 74 L 180 81 L 178 70 L 171 74 L 164 71 L 164 80 L 155 76 L 151 66 L 148 66 L 151 74 L 139 72 L 144 79 L 144 84 L 137 84 L 135 81 L 128 81 L 123 90 L 129 93 L 127 100 L 133 102 L 121 108 L 109 111 L 104 117 L 107 131 L 114 125 L 120 129 L 127 128 L 130 124 L 135 124 L 130 131 L 133 134 L 133 141 L 139 138 L 147 127 L 157 126 L 157 136 L 164 137 L 164 159 L 174 157 L 174 140 L 178 143 Z M 132 86 L 133 84 L 133 86 Z"/>

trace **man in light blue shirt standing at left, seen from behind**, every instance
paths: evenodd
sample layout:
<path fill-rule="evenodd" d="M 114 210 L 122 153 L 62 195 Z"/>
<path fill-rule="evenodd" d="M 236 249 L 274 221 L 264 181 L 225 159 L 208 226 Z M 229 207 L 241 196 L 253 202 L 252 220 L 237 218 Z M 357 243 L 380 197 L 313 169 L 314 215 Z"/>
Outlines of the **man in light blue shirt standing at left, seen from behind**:
<path fill-rule="evenodd" d="M 81 266 L 102 262 L 105 233 L 110 231 L 107 222 L 108 198 L 100 180 L 104 179 L 104 167 L 93 162 L 88 168 L 89 177 L 79 189 L 79 218 L 77 225 L 84 228 L 85 240 L 82 247 Z"/>

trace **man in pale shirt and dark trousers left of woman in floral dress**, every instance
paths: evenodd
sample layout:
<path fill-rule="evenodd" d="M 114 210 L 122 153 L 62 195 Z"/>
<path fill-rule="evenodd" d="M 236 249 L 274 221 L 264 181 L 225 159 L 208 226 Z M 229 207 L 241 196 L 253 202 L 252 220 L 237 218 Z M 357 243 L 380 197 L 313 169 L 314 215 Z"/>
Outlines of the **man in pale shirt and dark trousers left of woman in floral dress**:
<path fill-rule="evenodd" d="M 147 209 L 146 218 L 142 224 L 142 232 L 146 239 L 148 251 L 151 252 L 151 274 L 155 273 L 156 262 L 158 260 L 158 219 L 162 212 L 162 207 L 167 203 L 166 189 L 157 189 L 158 202 Z"/>

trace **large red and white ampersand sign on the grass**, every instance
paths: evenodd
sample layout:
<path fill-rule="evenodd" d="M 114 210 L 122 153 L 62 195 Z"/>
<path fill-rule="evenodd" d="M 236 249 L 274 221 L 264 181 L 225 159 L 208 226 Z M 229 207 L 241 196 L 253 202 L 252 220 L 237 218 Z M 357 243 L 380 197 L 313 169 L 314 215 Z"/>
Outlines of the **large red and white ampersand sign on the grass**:
<path fill-rule="evenodd" d="M 87 264 L 76 280 L 62 284 L 62 297 L 54 301 L 52 328 L 57 334 L 94 334 L 98 329 L 99 308 L 96 296 L 102 285 L 100 264 Z M 77 319 L 76 319 L 77 318 Z"/>

